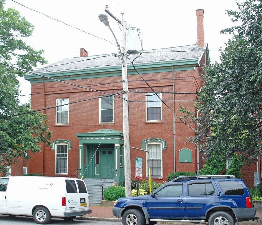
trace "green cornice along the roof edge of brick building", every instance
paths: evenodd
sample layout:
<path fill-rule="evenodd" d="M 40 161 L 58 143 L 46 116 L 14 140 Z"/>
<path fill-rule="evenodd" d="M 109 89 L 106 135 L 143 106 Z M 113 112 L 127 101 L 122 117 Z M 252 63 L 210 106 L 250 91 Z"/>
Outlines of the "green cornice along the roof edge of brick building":
<path fill-rule="evenodd" d="M 187 59 L 187 60 L 177 60 L 177 61 L 165 61 L 165 62 L 151 62 L 151 63 L 139 63 L 135 64 L 136 70 L 139 73 L 161 73 L 170 72 L 172 67 L 174 71 L 184 71 L 184 70 L 194 70 L 195 67 L 199 66 L 198 59 Z M 136 71 L 132 65 L 127 66 L 128 75 L 136 74 Z M 49 78 L 45 78 L 45 82 L 57 80 L 74 80 L 84 79 L 84 78 L 98 78 L 98 77 L 112 77 L 112 76 L 122 76 L 122 66 L 106 66 L 106 67 L 93 67 L 75 70 L 61 70 L 55 72 L 38 73 L 37 74 L 27 74 L 25 79 L 31 83 L 43 82 L 41 75 Z"/>

